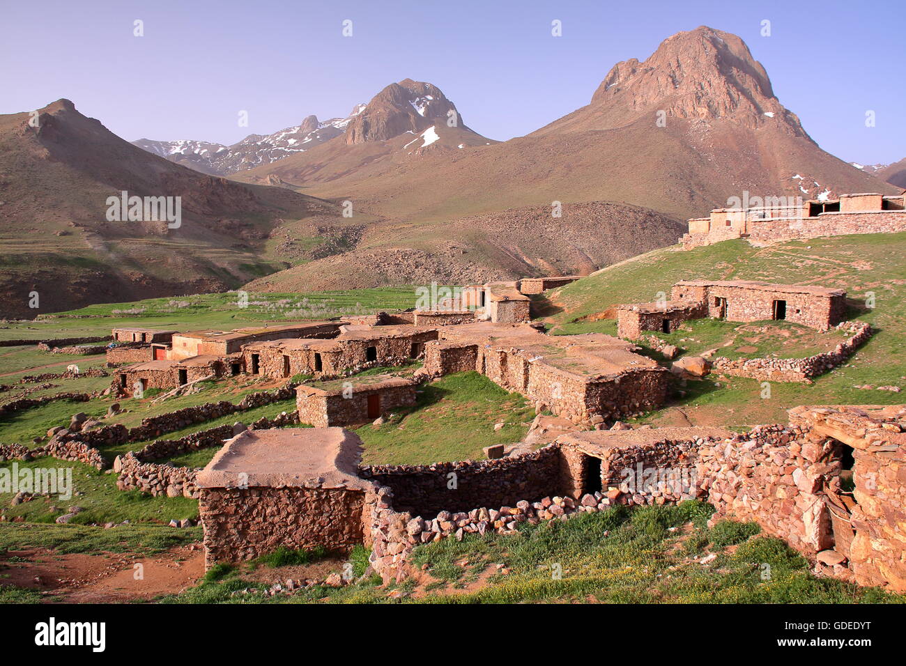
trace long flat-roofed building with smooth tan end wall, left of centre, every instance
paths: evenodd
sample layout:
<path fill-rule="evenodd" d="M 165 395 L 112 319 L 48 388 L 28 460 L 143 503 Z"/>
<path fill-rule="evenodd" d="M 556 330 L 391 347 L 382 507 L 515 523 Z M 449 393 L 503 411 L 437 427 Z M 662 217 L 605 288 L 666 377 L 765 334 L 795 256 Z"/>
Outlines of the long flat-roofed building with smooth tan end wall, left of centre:
<path fill-rule="evenodd" d="M 235 331 L 196 331 L 173 335 L 169 359 L 178 361 L 190 356 L 226 356 L 239 352 L 244 344 L 286 338 L 333 338 L 343 322 L 305 322 L 283 326 L 238 328 Z"/>

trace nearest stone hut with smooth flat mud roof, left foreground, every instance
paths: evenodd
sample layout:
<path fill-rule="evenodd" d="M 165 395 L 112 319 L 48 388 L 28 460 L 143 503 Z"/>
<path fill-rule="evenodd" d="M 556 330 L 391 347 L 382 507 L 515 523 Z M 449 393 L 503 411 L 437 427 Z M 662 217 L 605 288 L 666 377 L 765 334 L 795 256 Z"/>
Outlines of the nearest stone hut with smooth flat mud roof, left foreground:
<path fill-rule="evenodd" d="M 291 549 L 346 552 L 370 539 L 361 439 L 341 428 L 246 430 L 198 473 L 205 565 Z"/>

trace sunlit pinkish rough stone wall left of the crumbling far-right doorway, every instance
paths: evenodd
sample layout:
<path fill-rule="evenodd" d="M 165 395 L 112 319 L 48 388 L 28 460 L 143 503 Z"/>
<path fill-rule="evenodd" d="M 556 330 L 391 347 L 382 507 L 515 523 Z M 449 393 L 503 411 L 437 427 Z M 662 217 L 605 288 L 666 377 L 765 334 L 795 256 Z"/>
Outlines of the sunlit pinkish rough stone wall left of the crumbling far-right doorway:
<path fill-rule="evenodd" d="M 840 449 L 804 438 L 798 426 L 758 426 L 699 448 L 699 497 L 712 520 L 755 521 L 806 555 L 833 545 L 823 492 L 839 477 Z"/>

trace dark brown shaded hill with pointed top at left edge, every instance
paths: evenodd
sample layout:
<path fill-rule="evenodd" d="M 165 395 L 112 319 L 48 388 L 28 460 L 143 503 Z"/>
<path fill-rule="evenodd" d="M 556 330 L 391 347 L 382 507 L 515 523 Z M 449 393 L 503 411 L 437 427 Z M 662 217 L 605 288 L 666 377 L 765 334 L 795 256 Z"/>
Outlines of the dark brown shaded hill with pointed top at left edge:
<path fill-rule="evenodd" d="M 181 225 L 109 221 L 108 198 L 122 191 L 180 198 Z M 341 219 L 329 202 L 151 155 L 68 100 L 41 109 L 36 123 L 29 113 L 0 116 L 0 200 L 5 317 L 235 288 L 292 265 L 278 249 L 289 232 L 272 238 L 275 229 L 308 225 L 297 236 L 318 245 L 318 228 Z M 37 309 L 28 306 L 32 292 Z"/>

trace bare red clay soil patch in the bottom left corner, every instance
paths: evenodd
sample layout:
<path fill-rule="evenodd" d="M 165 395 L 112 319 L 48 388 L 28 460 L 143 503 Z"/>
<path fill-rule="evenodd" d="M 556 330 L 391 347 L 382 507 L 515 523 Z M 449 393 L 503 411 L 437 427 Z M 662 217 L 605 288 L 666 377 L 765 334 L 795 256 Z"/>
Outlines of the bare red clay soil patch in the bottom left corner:
<path fill-rule="evenodd" d="M 29 562 L 7 563 L 11 556 Z M 137 564 L 142 565 L 138 580 Z M 128 553 L 59 555 L 35 548 L 9 551 L 0 569 L 9 575 L 3 584 L 46 591 L 49 603 L 128 603 L 179 594 L 196 584 L 205 573 L 205 555 L 199 545 L 138 558 Z"/>

